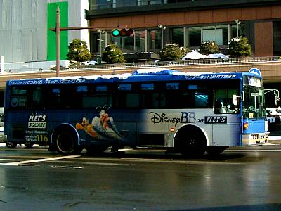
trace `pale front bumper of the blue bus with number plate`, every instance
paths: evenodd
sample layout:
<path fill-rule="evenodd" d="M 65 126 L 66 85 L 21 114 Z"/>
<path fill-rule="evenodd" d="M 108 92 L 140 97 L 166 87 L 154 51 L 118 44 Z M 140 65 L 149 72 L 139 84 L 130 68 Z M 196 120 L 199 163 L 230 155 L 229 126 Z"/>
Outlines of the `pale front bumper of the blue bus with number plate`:
<path fill-rule="evenodd" d="M 242 134 L 242 146 L 259 146 L 269 142 L 269 132 Z"/>

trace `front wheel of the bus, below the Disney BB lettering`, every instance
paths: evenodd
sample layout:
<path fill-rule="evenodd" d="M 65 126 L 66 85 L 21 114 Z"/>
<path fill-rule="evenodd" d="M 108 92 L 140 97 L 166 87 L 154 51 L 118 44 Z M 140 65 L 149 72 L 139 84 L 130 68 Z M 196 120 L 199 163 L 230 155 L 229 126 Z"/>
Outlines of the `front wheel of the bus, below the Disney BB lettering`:
<path fill-rule="evenodd" d="M 176 134 L 175 148 L 184 157 L 198 158 L 205 153 L 206 138 L 199 128 L 187 127 Z"/>

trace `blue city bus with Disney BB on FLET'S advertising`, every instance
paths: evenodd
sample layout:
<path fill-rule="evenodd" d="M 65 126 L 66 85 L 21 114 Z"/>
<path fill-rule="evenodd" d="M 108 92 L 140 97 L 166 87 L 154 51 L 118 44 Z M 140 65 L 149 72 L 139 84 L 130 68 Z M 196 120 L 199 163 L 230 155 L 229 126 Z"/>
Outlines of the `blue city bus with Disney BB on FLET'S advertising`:
<path fill-rule="evenodd" d="M 249 72 L 135 70 L 6 82 L 4 134 L 63 155 L 124 147 L 185 156 L 268 141 L 263 79 Z"/>

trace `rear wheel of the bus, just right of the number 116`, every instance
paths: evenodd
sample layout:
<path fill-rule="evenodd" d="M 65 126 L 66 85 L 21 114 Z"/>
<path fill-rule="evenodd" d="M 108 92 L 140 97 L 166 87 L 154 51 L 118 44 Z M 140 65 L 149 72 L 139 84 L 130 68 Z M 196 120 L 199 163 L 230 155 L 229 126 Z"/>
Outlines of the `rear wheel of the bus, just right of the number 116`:
<path fill-rule="evenodd" d="M 82 149 L 77 144 L 77 136 L 70 130 L 58 132 L 55 139 L 55 145 L 58 153 L 62 155 L 74 155 L 81 153 Z"/>

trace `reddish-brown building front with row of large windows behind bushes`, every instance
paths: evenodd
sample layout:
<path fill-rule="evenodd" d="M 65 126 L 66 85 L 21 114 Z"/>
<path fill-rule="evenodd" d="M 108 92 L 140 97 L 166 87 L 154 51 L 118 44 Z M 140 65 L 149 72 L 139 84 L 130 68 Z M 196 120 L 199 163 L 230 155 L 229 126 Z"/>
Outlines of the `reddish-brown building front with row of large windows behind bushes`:
<path fill-rule="evenodd" d="M 115 43 L 124 53 L 150 59 L 164 44 L 198 49 L 216 41 L 227 53 L 233 37 L 249 39 L 252 56 L 281 55 L 280 0 L 89 0 L 91 52 Z M 133 28 L 133 37 L 113 37 L 112 29 Z M 149 52 L 149 53 L 148 53 Z"/>

